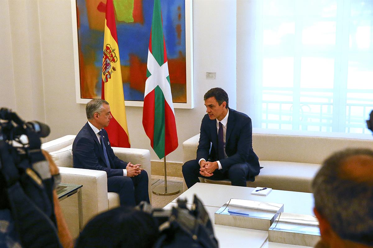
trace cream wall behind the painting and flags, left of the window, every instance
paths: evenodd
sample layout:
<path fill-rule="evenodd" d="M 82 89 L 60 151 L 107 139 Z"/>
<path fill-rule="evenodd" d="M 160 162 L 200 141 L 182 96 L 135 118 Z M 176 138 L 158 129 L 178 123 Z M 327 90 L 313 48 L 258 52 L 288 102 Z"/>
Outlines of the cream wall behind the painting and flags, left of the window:
<path fill-rule="evenodd" d="M 5 16 L 1 31 L 8 34 L 8 42 L 11 34 L 14 83 L 13 91 L 5 87 L 1 93 L 7 95 L 1 105 L 16 105 L 23 119 L 45 121 L 51 127 L 47 140 L 78 133 L 87 120 L 85 105 L 75 102 L 70 1 L 5 3 L 12 4 L 9 12 L 0 12 Z M 224 88 L 230 107 L 236 107 L 236 2 L 194 0 L 193 42 L 195 108 L 175 109 L 179 147 L 167 161 L 182 162 L 182 142 L 199 132 L 207 90 Z M 216 80 L 206 80 L 206 72 L 216 72 Z M 3 80 L 0 84 L 3 89 Z M 149 149 L 151 159 L 158 160 L 142 128 L 142 107 L 126 107 L 126 112 L 131 146 Z"/>

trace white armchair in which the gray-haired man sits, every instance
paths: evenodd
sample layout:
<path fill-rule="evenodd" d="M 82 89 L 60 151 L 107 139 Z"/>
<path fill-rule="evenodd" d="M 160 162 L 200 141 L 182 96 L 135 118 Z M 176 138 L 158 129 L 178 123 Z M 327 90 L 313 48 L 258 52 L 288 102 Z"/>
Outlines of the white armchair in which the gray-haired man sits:
<path fill-rule="evenodd" d="M 46 142 L 41 148 L 49 152 L 59 167 L 62 183 L 82 184 L 83 225 L 100 212 L 119 206 L 119 195 L 107 192 L 105 171 L 73 168 L 72 143 L 75 135 L 66 135 Z M 113 147 L 115 155 L 124 161 L 142 164 L 149 175 L 151 199 L 150 152 L 145 149 Z M 69 216 L 65 216 L 69 218 Z"/>

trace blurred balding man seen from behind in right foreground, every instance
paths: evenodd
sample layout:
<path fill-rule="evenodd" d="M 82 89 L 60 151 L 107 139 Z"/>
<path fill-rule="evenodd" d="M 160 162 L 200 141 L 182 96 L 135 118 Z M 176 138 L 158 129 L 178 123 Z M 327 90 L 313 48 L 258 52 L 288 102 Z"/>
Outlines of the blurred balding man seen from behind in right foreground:
<path fill-rule="evenodd" d="M 346 149 L 325 160 L 312 183 L 321 241 L 316 247 L 373 247 L 373 151 Z"/>

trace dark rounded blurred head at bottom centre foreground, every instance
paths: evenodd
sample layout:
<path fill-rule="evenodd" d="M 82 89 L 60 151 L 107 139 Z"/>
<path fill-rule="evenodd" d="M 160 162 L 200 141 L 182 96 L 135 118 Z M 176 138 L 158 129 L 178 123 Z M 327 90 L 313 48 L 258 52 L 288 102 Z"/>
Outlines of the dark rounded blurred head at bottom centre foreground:
<path fill-rule="evenodd" d="M 87 223 L 75 248 L 149 248 L 158 238 L 158 224 L 140 210 L 117 207 Z"/>

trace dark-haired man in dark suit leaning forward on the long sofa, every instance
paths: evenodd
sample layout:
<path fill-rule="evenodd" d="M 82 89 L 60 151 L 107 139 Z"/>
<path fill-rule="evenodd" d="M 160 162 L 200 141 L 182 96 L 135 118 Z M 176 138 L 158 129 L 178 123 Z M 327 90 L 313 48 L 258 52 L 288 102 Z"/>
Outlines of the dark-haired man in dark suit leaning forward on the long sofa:
<path fill-rule="evenodd" d="M 228 107 L 228 94 L 212 88 L 204 95 L 207 114 L 203 117 L 197 159 L 185 162 L 182 173 L 186 186 L 198 177 L 229 179 L 233 186 L 246 187 L 259 174 L 258 156 L 253 151 L 251 119 Z"/>

